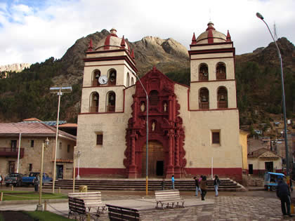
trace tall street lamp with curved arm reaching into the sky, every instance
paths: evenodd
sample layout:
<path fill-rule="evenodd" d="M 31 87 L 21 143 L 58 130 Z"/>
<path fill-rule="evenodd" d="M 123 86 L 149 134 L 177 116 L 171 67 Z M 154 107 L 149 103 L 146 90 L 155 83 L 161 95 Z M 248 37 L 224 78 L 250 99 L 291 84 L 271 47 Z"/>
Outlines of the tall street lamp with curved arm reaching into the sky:
<path fill-rule="evenodd" d="M 268 27 L 268 24 L 265 22 L 263 16 L 261 13 L 256 13 L 256 16 L 260 18 L 266 27 Z M 268 27 L 268 31 L 270 32 L 270 28 Z M 273 38 L 273 42 L 275 42 L 275 39 L 273 37 L 273 34 L 270 32 L 271 37 Z M 277 53 L 280 58 L 280 65 L 281 65 L 281 83 L 282 83 L 282 109 L 284 112 L 284 145 L 286 147 L 286 169 L 287 169 L 287 183 L 289 185 L 289 151 L 288 151 L 288 140 L 287 140 L 287 117 L 286 117 L 286 102 L 284 99 L 284 74 L 283 74 L 283 68 L 282 68 L 282 55 L 280 53 L 280 48 L 277 46 L 277 42 L 275 42 L 275 46 L 277 47 Z"/>

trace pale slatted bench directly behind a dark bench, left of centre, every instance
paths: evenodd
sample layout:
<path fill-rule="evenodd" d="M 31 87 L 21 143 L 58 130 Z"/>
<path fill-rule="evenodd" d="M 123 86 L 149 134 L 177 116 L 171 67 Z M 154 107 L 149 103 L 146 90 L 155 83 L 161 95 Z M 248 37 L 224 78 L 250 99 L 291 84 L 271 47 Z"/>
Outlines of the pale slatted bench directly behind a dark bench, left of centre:
<path fill-rule="evenodd" d="M 101 192 L 78 192 L 78 193 L 69 193 L 69 197 L 74 197 L 78 199 L 84 199 L 86 208 L 96 208 L 97 213 L 103 213 L 106 210 L 105 204 L 101 201 Z M 70 212 L 70 207 L 69 207 Z"/>

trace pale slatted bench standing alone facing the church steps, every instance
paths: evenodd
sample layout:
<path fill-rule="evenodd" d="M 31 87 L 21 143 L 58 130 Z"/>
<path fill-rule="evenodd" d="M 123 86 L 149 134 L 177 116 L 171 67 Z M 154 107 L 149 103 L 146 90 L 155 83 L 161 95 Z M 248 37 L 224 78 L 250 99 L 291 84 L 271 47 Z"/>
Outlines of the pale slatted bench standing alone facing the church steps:
<path fill-rule="evenodd" d="M 184 207 L 184 200 L 181 199 L 178 189 L 155 191 L 155 199 L 157 203 L 156 208 L 158 208 L 159 203 L 161 204 L 162 208 L 164 205 L 167 205 L 167 208 L 169 207 L 169 205 L 171 205 L 172 207 L 174 205 L 178 207 Z M 179 203 L 182 203 L 182 205 L 180 206 Z"/>

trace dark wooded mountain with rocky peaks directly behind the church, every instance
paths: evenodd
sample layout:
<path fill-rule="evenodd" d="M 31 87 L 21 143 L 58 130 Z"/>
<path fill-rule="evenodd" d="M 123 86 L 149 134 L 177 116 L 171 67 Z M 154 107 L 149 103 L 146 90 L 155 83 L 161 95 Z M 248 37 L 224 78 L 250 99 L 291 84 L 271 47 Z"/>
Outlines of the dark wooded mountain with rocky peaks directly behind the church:
<path fill-rule="evenodd" d="M 108 34 L 110 32 L 105 29 L 89 34 L 68 48 L 63 58 L 48 58 L 20 73 L 12 72 L 8 79 L 0 79 L 0 121 L 20 121 L 29 117 L 44 121 L 55 119 L 58 98 L 49 93 L 48 89 L 51 86 L 73 87 L 72 93 L 62 96 L 60 119 L 77 121 L 84 72 L 84 52 L 91 39 L 93 46 L 96 46 Z M 152 36 L 128 43 L 134 50 L 140 76 L 155 65 L 174 81 L 189 84 L 189 56 L 181 43 Z M 277 43 L 284 63 L 288 115 L 292 116 L 295 112 L 295 49 L 285 38 L 278 39 Z M 275 44 L 270 43 L 268 47 L 257 48 L 253 53 L 237 55 L 235 61 L 241 125 L 269 121 L 270 114 L 280 114 L 280 62 Z"/>

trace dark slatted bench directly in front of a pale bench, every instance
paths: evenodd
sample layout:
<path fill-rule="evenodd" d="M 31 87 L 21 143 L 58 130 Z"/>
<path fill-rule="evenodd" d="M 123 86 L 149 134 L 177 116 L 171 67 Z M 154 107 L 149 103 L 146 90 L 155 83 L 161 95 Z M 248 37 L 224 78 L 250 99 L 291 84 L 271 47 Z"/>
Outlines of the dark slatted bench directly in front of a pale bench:
<path fill-rule="evenodd" d="M 86 206 L 84 199 L 74 198 L 69 196 L 69 214 L 74 215 L 74 219 L 77 220 L 77 216 L 79 216 L 79 220 L 85 220 L 87 216 L 92 217 L 93 220 L 98 220 L 99 214 L 98 213 L 90 213 L 86 211 Z"/>

